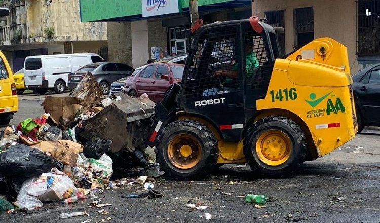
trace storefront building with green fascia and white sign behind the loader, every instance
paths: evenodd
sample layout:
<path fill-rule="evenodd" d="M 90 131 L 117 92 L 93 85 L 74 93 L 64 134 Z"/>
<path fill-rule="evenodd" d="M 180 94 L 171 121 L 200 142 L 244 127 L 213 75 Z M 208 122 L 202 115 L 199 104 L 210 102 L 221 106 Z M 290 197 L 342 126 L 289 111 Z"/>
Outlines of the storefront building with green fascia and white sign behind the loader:
<path fill-rule="evenodd" d="M 247 19 L 251 0 L 198 0 L 204 24 Z M 82 22 L 108 22 L 110 61 L 139 67 L 148 59 L 187 53 L 189 0 L 80 0 Z"/>

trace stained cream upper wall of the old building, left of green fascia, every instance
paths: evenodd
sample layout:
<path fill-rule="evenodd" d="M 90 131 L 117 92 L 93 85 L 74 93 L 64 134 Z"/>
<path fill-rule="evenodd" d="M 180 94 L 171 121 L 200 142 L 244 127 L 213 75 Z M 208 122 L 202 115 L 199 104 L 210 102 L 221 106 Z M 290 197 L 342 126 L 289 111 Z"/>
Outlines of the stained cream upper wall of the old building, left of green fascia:
<path fill-rule="evenodd" d="M 78 0 L 26 0 L 26 24 L 32 41 L 43 41 L 44 30 L 54 27 L 54 41 L 107 40 L 104 22 L 82 23 Z"/>

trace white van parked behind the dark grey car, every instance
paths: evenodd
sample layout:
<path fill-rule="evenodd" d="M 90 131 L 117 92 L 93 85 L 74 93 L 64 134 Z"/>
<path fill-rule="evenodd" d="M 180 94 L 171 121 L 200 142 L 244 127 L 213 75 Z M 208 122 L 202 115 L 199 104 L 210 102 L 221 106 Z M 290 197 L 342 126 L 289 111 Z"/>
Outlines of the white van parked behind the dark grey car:
<path fill-rule="evenodd" d="M 84 65 L 104 61 L 95 53 L 74 53 L 30 56 L 24 62 L 25 89 L 44 95 L 53 89 L 57 94 L 65 92 L 68 73 Z"/>

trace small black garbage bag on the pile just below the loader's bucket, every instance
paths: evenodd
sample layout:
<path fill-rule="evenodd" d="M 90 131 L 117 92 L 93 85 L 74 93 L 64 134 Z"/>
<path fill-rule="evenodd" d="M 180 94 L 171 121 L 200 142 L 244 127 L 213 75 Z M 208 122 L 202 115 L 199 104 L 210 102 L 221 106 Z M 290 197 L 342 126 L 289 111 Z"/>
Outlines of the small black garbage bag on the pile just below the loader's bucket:
<path fill-rule="evenodd" d="M 86 158 L 98 160 L 103 154 L 110 150 L 112 141 L 107 139 L 95 139 L 86 142 L 83 147 L 83 154 Z"/>

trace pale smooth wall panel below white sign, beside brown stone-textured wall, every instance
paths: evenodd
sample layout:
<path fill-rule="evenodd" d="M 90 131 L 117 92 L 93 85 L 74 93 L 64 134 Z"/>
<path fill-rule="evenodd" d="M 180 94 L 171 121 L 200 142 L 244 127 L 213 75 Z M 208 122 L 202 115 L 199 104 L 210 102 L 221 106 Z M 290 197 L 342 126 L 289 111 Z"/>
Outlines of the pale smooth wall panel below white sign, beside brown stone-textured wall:
<path fill-rule="evenodd" d="M 148 21 L 131 22 L 132 64 L 137 68 L 149 59 Z"/>

